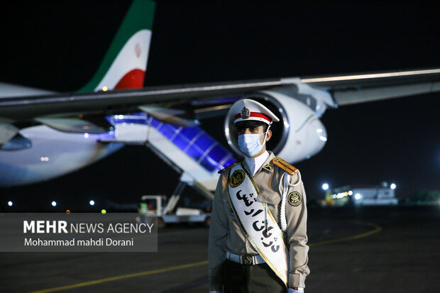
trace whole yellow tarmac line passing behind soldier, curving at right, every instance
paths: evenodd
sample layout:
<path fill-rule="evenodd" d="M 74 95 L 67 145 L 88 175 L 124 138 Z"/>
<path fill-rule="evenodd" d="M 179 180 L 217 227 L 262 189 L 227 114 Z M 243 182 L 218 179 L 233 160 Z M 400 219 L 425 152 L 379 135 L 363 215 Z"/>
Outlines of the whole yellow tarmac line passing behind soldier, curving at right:
<path fill-rule="evenodd" d="M 328 241 L 321 241 L 321 242 L 317 242 L 317 243 L 310 243 L 309 246 L 317 246 L 317 245 L 326 245 L 326 244 L 330 244 L 330 243 L 337 243 L 337 242 L 344 242 L 344 241 L 351 241 L 351 240 L 356 240 L 359 238 L 364 238 L 364 237 L 368 237 L 370 235 L 373 235 L 375 233 L 378 233 L 380 231 L 382 231 L 382 227 L 374 224 L 374 223 L 362 223 L 362 222 L 356 222 L 356 221 L 352 221 L 352 223 L 356 223 L 358 225 L 363 225 L 363 226 L 371 226 L 374 229 L 365 233 L 361 233 L 361 234 L 356 234 L 354 236 L 348 236 L 348 237 L 343 237 L 343 238 L 336 238 L 336 239 L 332 239 L 332 240 L 328 240 Z M 145 272 L 136 272 L 133 274 L 128 274 L 128 275 L 119 275 L 116 277 L 108 277 L 108 278 L 104 278 L 104 279 L 99 279 L 99 280 L 94 280 L 94 281 L 89 281 L 89 282 L 82 282 L 82 283 L 77 283 L 77 284 L 71 284 L 71 285 L 67 285 L 67 286 L 61 286 L 61 287 L 55 287 L 55 288 L 50 288 L 50 289 L 43 289 L 43 290 L 39 290 L 39 291 L 33 291 L 30 293 L 47 293 L 47 292 L 56 292 L 56 291 L 62 291 L 62 290 L 67 290 L 67 289 L 74 289 L 74 288 L 79 288 L 79 287 L 85 287 L 85 286 L 91 286 L 94 284 L 101 284 L 101 283 L 105 283 L 105 282 L 112 282 L 112 281 L 117 281 L 117 280 L 123 280 L 123 279 L 128 279 L 131 277 L 140 277 L 140 276 L 146 276 L 146 275 L 154 275 L 154 274 L 159 274 L 160 272 L 170 272 L 172 270 L 183 270 L 183 269 L 187 269 L 188 267 L 197 267 L 199 265 L 207 265 L 208 261 L 204 260 L 202 262 L 192 262 L 189 263 L 187 265 L 178 265 L 177 267 L 165 267 L 164 269 L 159 269 L 159 270 L 148 270 Z"/>

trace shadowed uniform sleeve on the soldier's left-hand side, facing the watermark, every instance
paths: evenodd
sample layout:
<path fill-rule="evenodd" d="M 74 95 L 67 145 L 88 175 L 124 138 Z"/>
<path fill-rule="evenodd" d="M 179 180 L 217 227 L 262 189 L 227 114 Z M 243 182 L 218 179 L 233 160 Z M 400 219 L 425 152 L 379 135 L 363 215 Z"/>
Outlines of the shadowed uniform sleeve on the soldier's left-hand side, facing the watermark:
<path fill-rule="evenodd" d="M 226 177 L 221 175 L 217 183 L 212 205 L 211 225 L 209 227 L 209 290 L 220 291 L 223 287 L 222 268 L 226 259 L 226 236 L 228 219 L 221 194 L 224 190 Z"/>

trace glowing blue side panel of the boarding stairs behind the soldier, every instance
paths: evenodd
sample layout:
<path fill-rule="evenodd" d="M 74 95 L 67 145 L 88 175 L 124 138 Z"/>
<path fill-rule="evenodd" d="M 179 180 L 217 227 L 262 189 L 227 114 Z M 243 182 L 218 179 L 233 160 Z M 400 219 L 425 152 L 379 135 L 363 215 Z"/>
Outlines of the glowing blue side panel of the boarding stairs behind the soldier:
<path fill-rule="evenodd" d="M 221 170 L 236 160 L 229 150 L 197 126 L 182 127 L 162 123 L 148 114 L 136 113 L 114 116 L 116 123 L 137 123 L 153 126 L 180 150 L 192 157 L 209 172 Z"/>

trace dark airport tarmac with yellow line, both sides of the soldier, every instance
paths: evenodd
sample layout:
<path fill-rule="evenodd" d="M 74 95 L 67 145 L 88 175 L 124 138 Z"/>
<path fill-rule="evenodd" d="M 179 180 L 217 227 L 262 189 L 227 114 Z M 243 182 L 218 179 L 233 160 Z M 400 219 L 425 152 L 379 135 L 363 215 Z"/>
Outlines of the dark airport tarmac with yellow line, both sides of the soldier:
<path fill-rule="evenodd" d="M 306 292 L 440 292 L 440 206 L 309 209 Z M 0 253 L 0 292 L 208 292 L 208 228 L 158 253 Z"/>

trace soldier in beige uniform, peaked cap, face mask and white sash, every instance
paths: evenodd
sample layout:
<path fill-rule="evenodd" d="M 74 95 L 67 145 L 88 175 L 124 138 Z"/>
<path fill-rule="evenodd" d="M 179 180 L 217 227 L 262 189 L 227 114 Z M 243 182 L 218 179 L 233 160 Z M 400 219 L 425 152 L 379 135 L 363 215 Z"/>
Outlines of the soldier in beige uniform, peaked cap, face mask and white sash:
<path fill-rule="evenodd" d="M 251 99 L 229 110 L 245 155 L 221 170 L 209 229 L 210 292 L 304 292 L 306 194 L 299 170 L 266 150 L 279 119 Z"/>

